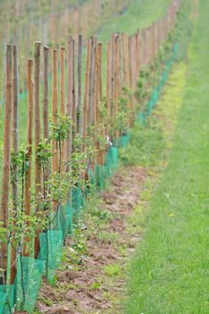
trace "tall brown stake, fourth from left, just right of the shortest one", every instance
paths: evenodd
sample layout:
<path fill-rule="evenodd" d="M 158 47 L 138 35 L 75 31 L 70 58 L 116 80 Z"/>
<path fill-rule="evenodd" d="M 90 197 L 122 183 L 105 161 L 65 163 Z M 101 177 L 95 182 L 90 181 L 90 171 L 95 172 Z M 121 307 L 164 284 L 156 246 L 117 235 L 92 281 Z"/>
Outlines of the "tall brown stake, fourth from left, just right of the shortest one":
<path fill-rule="evenodd" d="M 40 143 L 40 106 L 39 106 L 39 84 L 40 84 L 40 42 L 35 43 L 35 190 L 36 197 L 39 197 L 41 192 L 41 166 L 37 149 Z M 34 257 L 39 255 L 39 230 L 37 231 L 34 240 Z"/>

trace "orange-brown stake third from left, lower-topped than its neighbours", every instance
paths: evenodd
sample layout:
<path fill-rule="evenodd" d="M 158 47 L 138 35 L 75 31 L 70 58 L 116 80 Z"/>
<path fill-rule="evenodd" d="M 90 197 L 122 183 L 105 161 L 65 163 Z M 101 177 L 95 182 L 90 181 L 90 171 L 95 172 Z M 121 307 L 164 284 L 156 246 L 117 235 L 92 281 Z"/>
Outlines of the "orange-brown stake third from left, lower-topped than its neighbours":
<path fill-rule="evenodd" d="M 28 118 L 27 118 L 27 159 L 29 167 L 25 172 L 25 190 L 24 190 L 24 207 L 25 214 L 30 215 L 30 188 L 31 188 L 31 161 L 32 161 L 32 129 L 33 129 L 33 109 L 34 109 L 34 83 L 32 81 L 33 60 L 28 60 L 27 63 L 27 86 L 29 92 L 28 98 Z M 25 239 L 27 242 L 27 239 Z M 23 255 L 29 256 L 30 250 L 27 245 L 23 247 Z"/>

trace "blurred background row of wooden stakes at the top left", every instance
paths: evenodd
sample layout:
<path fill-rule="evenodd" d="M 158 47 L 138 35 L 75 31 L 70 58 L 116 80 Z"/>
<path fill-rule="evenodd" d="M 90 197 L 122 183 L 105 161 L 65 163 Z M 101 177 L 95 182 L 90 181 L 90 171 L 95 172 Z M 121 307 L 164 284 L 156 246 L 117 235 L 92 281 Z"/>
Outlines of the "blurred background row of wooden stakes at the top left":
<path fill-rule="evenodd" d="M 128 0 L 130 1 L 130 0 Z M 17 3 L 17 4 L 16 4 Z M 57 11 L 57 4 L 48 4 L 51 9 Z M 63 3 L 63 10 L 58 12 L 53 12 L 45 14 L 39 19 L 34 19 L 33 15 L 39 16 L 42 12 L 42 5 L 36 4 L 30 6 L 28 1 L 14 1 L 12 6 L 8 1 L 5 4 L 0 3 L 0 12 L 4 16 L 1 22 L 0 18 L 0 47 L 4 47 L 6 43 L 13 42 L 18 47 L 22 48 L 22 54 L 19 54 L 19 75 L 21 77 L 21 82 L 19 83 L 19 91 L 25 92 L 26 80 L 25 78 L 25 59 L 31 57 L 31 45 L 35 39 L 39 38 L 44 45 L 57 46 L 60 41 L 64 41 L 69 30 L 72 34 L 83 33 L 86 37 L 90 31 L 95 30 L 100 25 L 100 19 L 105 18 L 110 15 L 114 10 L 123 9 L 127 4 L 127 0 L 108 0 L 105 5 L 102 4 L 101 0 L 90 0 L 85 1 L 83 4 L 69 4 Z M 28 7 L 29 5 L 29 7 Z M 25 10 L 30 10 L 30 22 L 25 25 L 25 20 L 21 18 Z M 39 12 L 37 12 L 37 10 Z M 114 12 L 115 12 L 114 11 Z M 8 15 L 8 16 L 7 16 Z M 19 19 L 18 23 L 11 19 L 11 16 L 17 17 Z M 100 16 L 100 19 L 98 18 Z M 70 23 L 69 23 L 70 22 Z M 2 24 L 3 23 L 3 24 Z M 3 31 L 4 29 L 4 31 Z M 4 66 L 4 53 L 3 49 L 0 51 L 0 66 Z M 0 73 L 0 100 L 4 98 L 4 73 Z"/>

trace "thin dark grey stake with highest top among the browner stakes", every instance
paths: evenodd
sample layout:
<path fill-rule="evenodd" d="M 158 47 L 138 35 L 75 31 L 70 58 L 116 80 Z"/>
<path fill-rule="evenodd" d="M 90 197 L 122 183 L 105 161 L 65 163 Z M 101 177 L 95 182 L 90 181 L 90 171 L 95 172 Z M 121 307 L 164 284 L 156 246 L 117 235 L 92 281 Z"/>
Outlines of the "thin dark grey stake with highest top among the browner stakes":
<path fill-rule="evenodd" d="M 78 64 L 77 64 L 77 132 L 83 133 L 83 108 L 82 108 L 82 51 L 83 36 L 78 36 Z"/>

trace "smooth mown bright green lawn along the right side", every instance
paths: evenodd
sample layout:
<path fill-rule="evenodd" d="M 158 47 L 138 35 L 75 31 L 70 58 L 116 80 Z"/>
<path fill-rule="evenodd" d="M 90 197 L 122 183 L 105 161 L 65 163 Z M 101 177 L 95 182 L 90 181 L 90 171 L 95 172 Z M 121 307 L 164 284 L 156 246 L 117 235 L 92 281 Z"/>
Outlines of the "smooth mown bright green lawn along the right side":
<path fill-rule="evenodd" d="M 209 313 L 209 3 L 189 49 L 170 161 L 129 269 L 128 314 Z"/>

